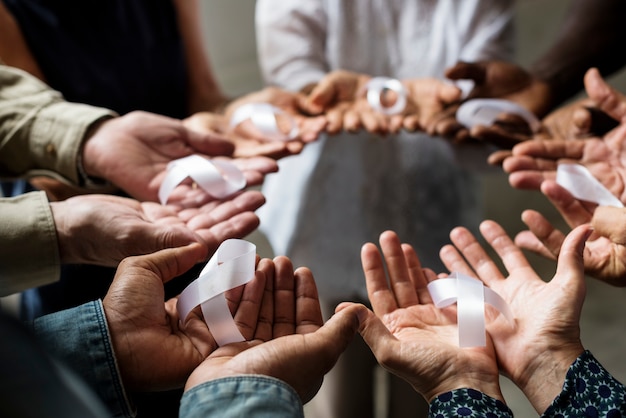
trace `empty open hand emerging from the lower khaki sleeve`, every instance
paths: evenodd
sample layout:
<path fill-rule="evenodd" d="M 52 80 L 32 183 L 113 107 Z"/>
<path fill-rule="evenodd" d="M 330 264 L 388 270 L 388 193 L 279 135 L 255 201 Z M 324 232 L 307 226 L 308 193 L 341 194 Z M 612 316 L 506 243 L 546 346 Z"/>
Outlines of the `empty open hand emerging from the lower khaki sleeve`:
<path fill-rule="evenodd" d="M 94 194 L 50 207 L 62 263 L 114 267 L 125 257 L 193 242 L 213 254 L 224 240 L 241 238 L 258 226 L 254 211 L 264 202 L 260 192 L 246 191 L 184 209 Z"/>

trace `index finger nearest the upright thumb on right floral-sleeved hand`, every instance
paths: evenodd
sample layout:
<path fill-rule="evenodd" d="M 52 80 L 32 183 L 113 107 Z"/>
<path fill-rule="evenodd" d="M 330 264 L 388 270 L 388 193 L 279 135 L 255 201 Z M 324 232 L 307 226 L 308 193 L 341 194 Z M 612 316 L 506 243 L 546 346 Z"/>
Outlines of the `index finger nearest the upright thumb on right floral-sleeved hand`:
<path fill-rule="evenodd" d="M 480 232 L 487 243 L 491 245 L 491 248 L 498 254 L 509 273 L 519 269 L 530 268 L 530 263 L 528 263 L 522 250 L 515 245 L 511 237 L 499 224 L 494 221 L 484 221 L 480 224 Z M 488 266 L 488 268 L 484 269 L 486 274 L 494 275 L 495 277 L 496 274 L 500 273 L 495 263 L 486 263 L 486 266 Z"/>

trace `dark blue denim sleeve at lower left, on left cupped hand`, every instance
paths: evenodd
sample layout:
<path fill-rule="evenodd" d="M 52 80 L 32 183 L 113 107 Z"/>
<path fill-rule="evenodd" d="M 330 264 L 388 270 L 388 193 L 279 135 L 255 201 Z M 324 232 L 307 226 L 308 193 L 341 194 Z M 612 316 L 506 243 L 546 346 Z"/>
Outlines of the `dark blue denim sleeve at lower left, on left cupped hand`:
<path fill-rule="evenodd" d="M 41 345 L 89 385 L 111 416 L 135 416 L 100 300 L 37 318 L 32 328 Z"/>

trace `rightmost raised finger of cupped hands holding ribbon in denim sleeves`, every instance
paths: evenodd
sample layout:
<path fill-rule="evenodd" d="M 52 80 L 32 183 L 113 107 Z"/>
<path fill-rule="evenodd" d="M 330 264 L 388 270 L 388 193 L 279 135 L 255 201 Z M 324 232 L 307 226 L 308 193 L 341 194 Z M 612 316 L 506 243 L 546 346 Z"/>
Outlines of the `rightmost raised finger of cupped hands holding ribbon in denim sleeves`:
<path fill-rule="evenodd" d="M 294 278 L 295 331 L 297 334 L 308 334 L 324 324 L 317 286 L 313 273 L 306 267 L 298 268 L 294 273 Z"/>

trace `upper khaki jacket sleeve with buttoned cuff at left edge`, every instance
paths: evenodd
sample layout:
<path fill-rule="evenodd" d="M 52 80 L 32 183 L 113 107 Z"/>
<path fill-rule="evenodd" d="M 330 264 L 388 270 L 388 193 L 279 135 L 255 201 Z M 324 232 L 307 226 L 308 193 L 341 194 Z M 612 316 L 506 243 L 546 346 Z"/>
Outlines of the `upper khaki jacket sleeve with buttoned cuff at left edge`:
<path fill-rule="evenodd" d="M 110 110 L 68 103 L 31 75 L 0 65 L 0 177 L 45 175 L 80 185 L 78 153 Z"/>

